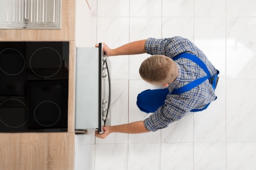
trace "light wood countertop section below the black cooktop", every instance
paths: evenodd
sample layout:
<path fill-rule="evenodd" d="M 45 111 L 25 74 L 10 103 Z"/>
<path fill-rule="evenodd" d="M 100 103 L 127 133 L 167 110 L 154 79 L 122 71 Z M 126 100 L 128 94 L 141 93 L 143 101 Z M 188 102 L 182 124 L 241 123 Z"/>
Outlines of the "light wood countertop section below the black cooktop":
<path fill-rule="evenodd" d="M 0 135 L 1 170 L 74 169 L 74 133 Z"/>

